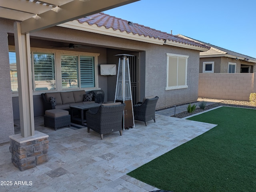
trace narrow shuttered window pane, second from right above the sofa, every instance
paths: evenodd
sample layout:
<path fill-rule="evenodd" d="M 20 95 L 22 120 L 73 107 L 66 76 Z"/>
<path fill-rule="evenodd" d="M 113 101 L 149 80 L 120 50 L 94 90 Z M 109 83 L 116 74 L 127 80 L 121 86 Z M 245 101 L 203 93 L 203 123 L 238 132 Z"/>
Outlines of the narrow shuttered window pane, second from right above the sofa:
<path fill-rule="evenodd" d="M 61 55 L 62 88 L 78 87 L 78 57 Z"/>

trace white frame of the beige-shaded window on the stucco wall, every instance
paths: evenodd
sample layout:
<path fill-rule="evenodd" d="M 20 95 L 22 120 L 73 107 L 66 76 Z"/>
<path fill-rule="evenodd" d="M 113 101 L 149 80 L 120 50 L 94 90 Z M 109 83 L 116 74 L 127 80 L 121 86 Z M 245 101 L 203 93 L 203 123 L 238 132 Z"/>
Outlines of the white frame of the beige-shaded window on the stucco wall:
<path fill-rule="evenodd" d="M 167 69 L 166 69 L 166 88 L 165 90 L 174 90 L 174 89 L 183 89 L 188 88 L 187 86 L 187 69 L 188 69 L 188 55 L 178 55 L 178 54 L 172 54 L 172 53 L 166 53 L 167 55 Z M 185 66 L 185 85 L 177 85 L 177 86 L 168 86 L 169 82 L 169 58 L 175 57 L 175 58 L 182 58 L 186 60 L 186 66 Z M 177 78 L 178 78 L 178 67 L 177 67 Z"/>

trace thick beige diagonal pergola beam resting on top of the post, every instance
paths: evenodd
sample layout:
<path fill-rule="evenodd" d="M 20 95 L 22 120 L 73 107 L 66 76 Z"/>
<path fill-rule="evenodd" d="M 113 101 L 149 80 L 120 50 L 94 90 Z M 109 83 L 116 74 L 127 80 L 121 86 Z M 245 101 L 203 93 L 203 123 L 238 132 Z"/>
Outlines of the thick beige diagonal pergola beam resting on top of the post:
<path fill-rule="evenodd" d="M 21 33 L 31 33 L 136 1 L 138 0 L 73 0 L 22 21 Z"/>

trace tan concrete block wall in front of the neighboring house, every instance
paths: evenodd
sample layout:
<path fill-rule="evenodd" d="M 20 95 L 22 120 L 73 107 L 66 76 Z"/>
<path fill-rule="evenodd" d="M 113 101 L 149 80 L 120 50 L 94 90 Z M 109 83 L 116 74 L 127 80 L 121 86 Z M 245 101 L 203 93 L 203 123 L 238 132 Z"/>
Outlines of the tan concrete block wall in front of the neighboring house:
<path fill-rule="evenodd" d="M 198 97 L 249 101 L 250 93 L 256 91 L 254 75 L 255 73 L 200 73 Z"/>

